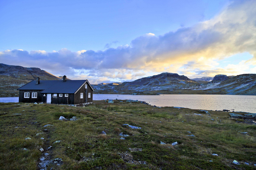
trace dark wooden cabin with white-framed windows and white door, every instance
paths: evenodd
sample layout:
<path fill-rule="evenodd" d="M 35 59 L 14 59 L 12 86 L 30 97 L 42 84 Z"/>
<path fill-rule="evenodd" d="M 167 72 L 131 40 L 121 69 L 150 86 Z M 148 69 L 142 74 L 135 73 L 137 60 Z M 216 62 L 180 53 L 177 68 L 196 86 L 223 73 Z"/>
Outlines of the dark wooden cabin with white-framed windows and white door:
<path fill-rule="evenodd" d="M 93 101 L 93 88 L 88 80 L 41 80 L 37 77 L 19 90 L 19 102 L 64 105 L 88 105 Z"/>

